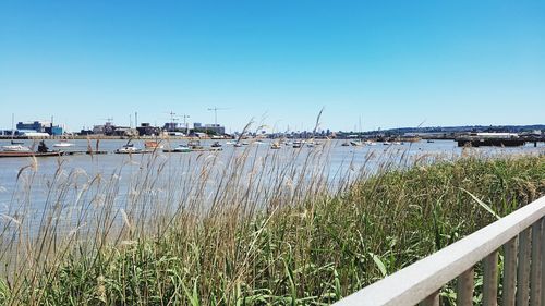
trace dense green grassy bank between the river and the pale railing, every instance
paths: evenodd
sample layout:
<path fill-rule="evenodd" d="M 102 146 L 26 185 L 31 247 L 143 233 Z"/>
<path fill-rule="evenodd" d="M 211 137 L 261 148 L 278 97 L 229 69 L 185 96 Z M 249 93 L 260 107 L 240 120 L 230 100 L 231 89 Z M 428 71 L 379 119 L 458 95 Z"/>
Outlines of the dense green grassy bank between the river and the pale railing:
<path fill-rule="evenodd" d="M 275 171 L 280 178 L 295 168 Z M 229 175 L 226 186 L 237 180 Z M 97 215 L 104 224 L 87 236 L 57 242 L 41 233 L 41 240 L 27 241 L 33 245 L 20 243 L 24 268 L 13 268 L 16 276 L 7 272 L 0 301 L 329 304 L 493 222 L 470 194 L 499 216 L 545 195 L 544 156 L 467 157 L 360 175 L 334 194 L 313 176 L 304 187 L 292 186 L 289 201 L 269 195 L 263 209 L 244 197 L 217 194 L 221 206 L 203 215 L 187 205 L 137 225 L 122 212 L 120 231 L 111 230 L 116 218 Z M 286 182 L 277 183 L 274 191 L 283 193 Z M 37 250 L 36 242 L 55 252 Z"/>

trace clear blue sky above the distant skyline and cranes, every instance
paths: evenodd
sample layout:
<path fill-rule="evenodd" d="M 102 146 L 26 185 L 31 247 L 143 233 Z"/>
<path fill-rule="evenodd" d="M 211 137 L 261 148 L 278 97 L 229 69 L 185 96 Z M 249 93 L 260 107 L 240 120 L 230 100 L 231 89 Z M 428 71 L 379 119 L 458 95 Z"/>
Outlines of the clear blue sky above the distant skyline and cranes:
<path fill-rule="evenodd" d="M 545 123 L 545 1 L 3 0 L 0 105 L 3 128 Z"/>

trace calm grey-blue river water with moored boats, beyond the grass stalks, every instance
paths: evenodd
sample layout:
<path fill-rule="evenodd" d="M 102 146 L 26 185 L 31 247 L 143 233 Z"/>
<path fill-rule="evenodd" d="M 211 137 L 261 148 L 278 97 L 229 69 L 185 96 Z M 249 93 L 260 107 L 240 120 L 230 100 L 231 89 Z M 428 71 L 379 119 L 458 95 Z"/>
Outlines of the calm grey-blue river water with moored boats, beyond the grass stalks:
<path fill-rule="evenodd" d="M 46 144 L 53 148 L 53 144 L 58 140 L 46 140 Z M 32 140 L 26 140 L 25 145 L 31 146 Z M 71 140 L 75 146 L 66 150 L 86 150 L 87 140 Z M 99 149 L 112 152 L 120 148 L 126 140 L 100 140 Z M 144 140 L 133 142 L 136 147 L 144 148 Z M 178 144 L 184 144 L 185 140 L 174 140 L 170 146 L 175 147 Z M 209 146 L 213 140 L 203 140 L 202 145 Z M 308 156 L 314 152 L 319 152 L 312 160 L 313 163 L 323 166 L 325 175 L 331 186 L 335 186 L 336 180 L 347 175 L 349 172 L 356 173 L 363 166 L 367 170 L 376 169 L 377 164 L 385 162 L 386 159 L 392 162 L 407 162 L 412 157 L 416 156 L 440 156 L 441 158 L 452 158 L 459 156 L 462 151 L 458 148 L 452 140 L 435 140 L 434 143 L 419 142 L 405 143 L 403 145 L 385 146 L 377 144 L 375 146 L 363 147 L 343 147 L 343 140 L 330 140 L 327 145 L 316 146 L 314 148 L 304 147 L 302 149 L 294 149 L 291 146 L 282 146 L 279 150 L 270 149 L 270 140 L 265 140 L 264 144 L 252 144 L 247 148 L 235 148 L 232 145 L 226 145 L 226 140 L 221 140 L 223 150 L 219 152 L 189 152 L 189 154 L 162 154 L 153 155 L 99 155 L 99 156 L 65 156 L 61 158 L 49 157 L 38 158 L 38 166 L 35 172 L 35 179 L 28 183 L 28 176 L 32 172 L 29 169 L 23 171 L 22 179 L 17 181 L 17 173 L 21 169 L 31 164 L 29 158 L 0 158 L 0 213 L 11 213 L 13 207 L 21 201 L 29 203 L 31 210 L 28 213 L 37 213 L 40 207 L 44 206 L 50 189 L 52 178 L 58 169 L 62 169 L 61 174 L 58 175 L 63 180 L 81 181 L 81 185 L 88 183 L 88 180 L 97 174 L 105 178 L 116 178 L 119 188 L 120 199 L 119 205 L 123 205 L 123 196 L 131 194 L 132 188 L 138 185 L 143 179 L 142 169 L 149 168 L 150 159 L 155 160 L 153 169 L 162 164 L 161 171 L 144 172 L 145 175 L 156 176 L 153 178 L 156 192 L 155 197 L 164 197 L 165 201 L 172 198 L 183 196 L 183 194 L 191 194 L 192 180 L 195 180 L 195 171 L 210 168 L 210 188 L 214 189 L 220 182 L 215 182 L 215 178 L 225 173 L 226 169 L 232 163 L 233 159 L 240 157 L 244 151 L 249 155 L 246 159 L 247 166 L 244 169 L 258 169 L 259 171 L 275 172 L 277 168 L 282 164 L 291 163 L 294 167 L 303 167 L 308 160 Z M 0 142 L 0 146 L 8 145 L 9 140 Z M 92 147 L 95 148 L 96 143 L 92 142 Z M 537 148 L 533 145 L 528 145 L 518 148 L 473 148 L 473 152 L 483 155 L 497 155 L 497 154 L 521 154 L 521 152 L 544 152 L 545 146 L 541 144 Z M 370 155 L 372 158 L 370 158 Z M 210 160 L 214 159 L 214 162 Z M 270 161 L 272 160 L 272 161 Z M 255 164 L 257 162 L 257 167 Z M 61 164 L 61 166 L 60 166 Z M 76 174 L 74 174 L 74 172 Z M 267 172 L 267 173 L 268 173 Z M 71 174 L 72 173 L 72 174 Z M 187 179 L 184 181 L 182 176 Z M 247 174 L 251 175 L 251 174 Z M 274 176 L 271 174 L 271 176 Z M 355 175 L 354 175 L 355 176 Z M 26 178 L 26 179 L 25 179 Z M 149 179 L 149 178 L 147 178 Z M 135 183 L 136 182 L 136 183 Z M 274 184 L 274 182 L 264 182 L 264 184 Z M 77 184 L 75 184 L 77 185 Z M 28 194 L 20 194 L 21 189 L 31 186 L 32 192 Z M 74 187 L 77 189 L 77 186 Z M 19 191 L 19 192 L 17 192 Z M 77 191 L 64 191 L 66 195 L 56 195 L 59 198 L 74 200 Z M 98 191 L 100 192 L 100 191 Z M 134 191 L 133 191 L 134 192 Z M 181 195 L 180 195 L 181 194 Z M 26 198 L 25 198 L 26 197 Z"/>

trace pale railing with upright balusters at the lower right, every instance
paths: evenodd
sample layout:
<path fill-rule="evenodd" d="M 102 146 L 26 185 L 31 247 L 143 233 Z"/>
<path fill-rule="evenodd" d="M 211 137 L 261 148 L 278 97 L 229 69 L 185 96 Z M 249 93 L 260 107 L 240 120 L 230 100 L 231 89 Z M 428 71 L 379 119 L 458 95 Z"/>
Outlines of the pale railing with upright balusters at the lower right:
<path fill-rule="evenodd" d="M 473 267 L 481 260 L 482 303 L 498 305 L 498 250 L 504 247 L 501 305 L 545 306 L 544 216 L 542 197 L 335 305 L 439 305 L 440 289 L 457 278 L 457 305 L 473 305 Z"/>

